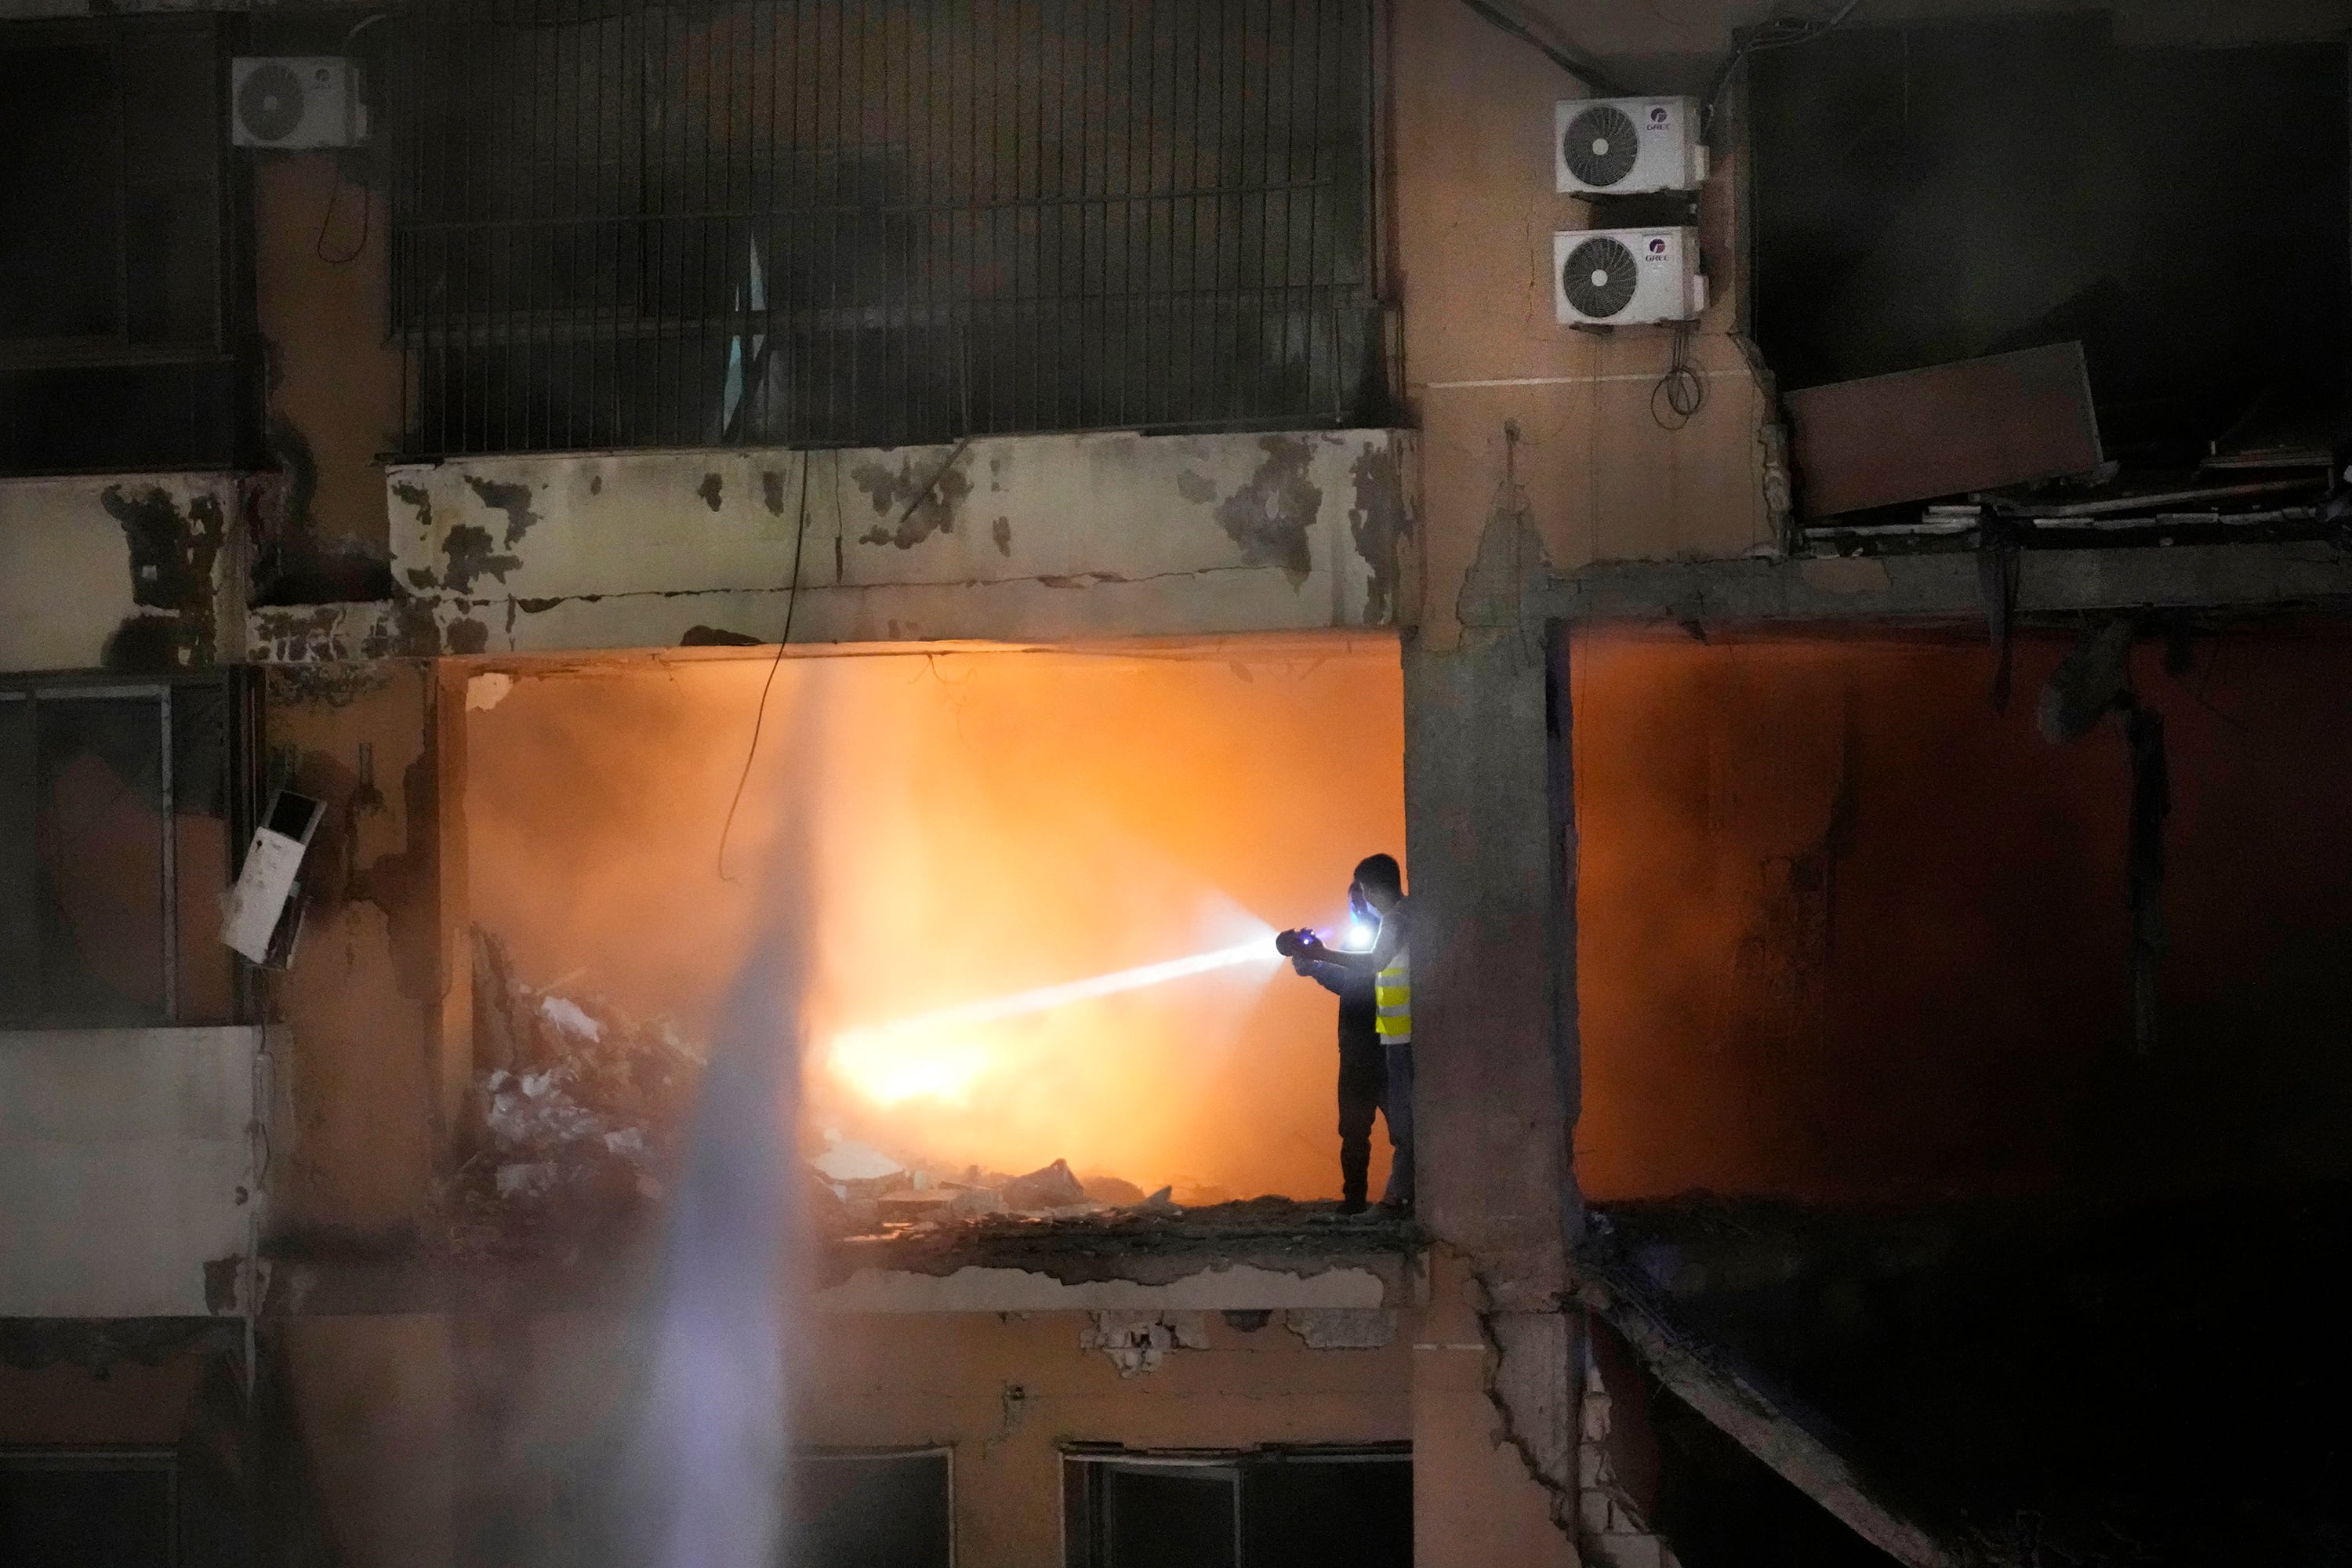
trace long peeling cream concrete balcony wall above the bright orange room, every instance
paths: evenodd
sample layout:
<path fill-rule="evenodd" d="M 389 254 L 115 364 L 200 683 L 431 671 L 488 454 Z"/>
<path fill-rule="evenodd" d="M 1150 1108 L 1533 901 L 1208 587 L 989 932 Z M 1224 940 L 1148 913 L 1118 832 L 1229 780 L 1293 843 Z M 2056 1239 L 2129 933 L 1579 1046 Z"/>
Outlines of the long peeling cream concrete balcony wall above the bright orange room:
<path fill-rule="evenodd" d="M 388 604 L 254 611 L 256 656 L 1390 625 L 1411 442 L 1051 435 L 395 465 Z M 800 588 L 795 590 L 795 581 Z"/>

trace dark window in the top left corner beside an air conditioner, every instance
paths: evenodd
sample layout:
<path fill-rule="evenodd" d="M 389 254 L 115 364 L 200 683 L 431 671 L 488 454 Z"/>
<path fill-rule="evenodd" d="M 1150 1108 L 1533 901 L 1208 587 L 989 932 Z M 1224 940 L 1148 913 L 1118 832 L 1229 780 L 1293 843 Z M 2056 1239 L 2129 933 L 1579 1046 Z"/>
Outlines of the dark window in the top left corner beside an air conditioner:
<path fill-rule="evenodd" d="M 235 463 L 223 75 L 214 16 L 0 31 L 0 473 Z"/>

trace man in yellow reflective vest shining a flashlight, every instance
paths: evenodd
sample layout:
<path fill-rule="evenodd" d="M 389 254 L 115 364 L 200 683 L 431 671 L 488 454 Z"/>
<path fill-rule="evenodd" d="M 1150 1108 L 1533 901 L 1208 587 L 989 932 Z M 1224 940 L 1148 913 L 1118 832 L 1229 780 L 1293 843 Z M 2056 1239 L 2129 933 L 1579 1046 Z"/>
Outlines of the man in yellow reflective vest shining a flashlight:
<path fill-rule="evenodd" d="M 1381 1208 L 1402 1215 L 1414 1206 L 1414 971 L 1404 872 L 1392 856 L 1357 863 L 1348 914 L 1343 945 L 1301 929 L 1279 933 L 1275 952 L 1338 997 L 1341 1213 L 1364 1211 L 1378 1110 L 1392 1150 Z"/>

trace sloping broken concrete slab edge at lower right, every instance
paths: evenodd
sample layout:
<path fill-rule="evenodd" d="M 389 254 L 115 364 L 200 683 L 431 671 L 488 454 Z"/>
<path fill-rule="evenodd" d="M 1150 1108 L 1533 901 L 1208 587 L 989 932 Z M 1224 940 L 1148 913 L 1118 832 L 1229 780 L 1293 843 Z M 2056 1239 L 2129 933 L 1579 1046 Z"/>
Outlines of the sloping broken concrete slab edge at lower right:
<path fill-rule="evenodd" d="M 1745 1378 L 1700 1361 L 1665 1324 L 1628 1295 L 1588 1281 L 1581 1298 L 1625 1335 L 1635 1354 L 1677 1399 L 1844 1521 L 1856 1535 L 1910 1568 L 1959 1568 L 1959 1559 L 1943 1542 L 1872 1497 L 1828 1443 L 1783 1415 Z"/>

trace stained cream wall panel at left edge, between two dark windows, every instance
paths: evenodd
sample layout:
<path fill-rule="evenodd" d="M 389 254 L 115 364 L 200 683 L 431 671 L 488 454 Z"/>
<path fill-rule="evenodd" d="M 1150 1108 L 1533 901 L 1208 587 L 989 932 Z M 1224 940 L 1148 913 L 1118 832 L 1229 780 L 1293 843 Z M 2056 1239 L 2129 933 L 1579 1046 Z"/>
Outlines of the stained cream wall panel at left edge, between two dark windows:
<path fill-rule="evenodd" d="M 245 654 L 230 475 L 0 482 L 0 670 L 200 670 Z"/>

